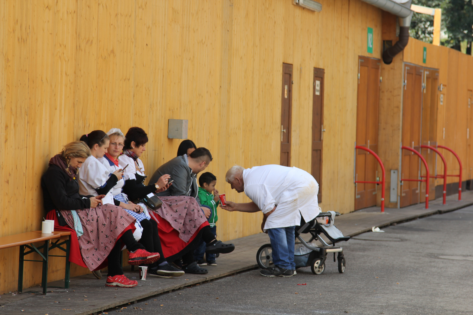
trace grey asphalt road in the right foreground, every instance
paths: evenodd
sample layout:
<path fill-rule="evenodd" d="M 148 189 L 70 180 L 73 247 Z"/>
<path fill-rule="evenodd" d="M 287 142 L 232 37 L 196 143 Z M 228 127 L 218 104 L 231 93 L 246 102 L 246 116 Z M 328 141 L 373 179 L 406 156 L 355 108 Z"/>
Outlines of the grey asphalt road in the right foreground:
<path fill-rule="evenodd" d="M 361 234 L 342 244 L 343 274 L 333 259 L 321 275 L 253 270 L 108 314 L 473 314 L 472 221 L 468 207 Z"/>

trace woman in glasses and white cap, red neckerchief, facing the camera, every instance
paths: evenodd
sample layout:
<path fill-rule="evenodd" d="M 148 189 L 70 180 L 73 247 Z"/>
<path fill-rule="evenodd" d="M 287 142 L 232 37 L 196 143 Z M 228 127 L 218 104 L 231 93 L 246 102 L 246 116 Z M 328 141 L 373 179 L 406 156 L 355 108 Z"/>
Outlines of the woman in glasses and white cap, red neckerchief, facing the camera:
<path fill-rule="evenodd" d="M 109 174 L 114 173 L 117 170 L 120 170 L 121 167 L 118 162 L 118 156 L 122 153 L 124 146 L 125 136 L 122 131 L 118 128 L 112 128 L 107 132 L 107 136 L 110 138 L 110 145 L 108 146 L 107 151 L 103 158 L 99 159 L 100 162 L 108 170 Z M 126 167 L 126 165 L 125 165 Z M 126 167 L 134 168 L 133 164 L 130 164 Z M 112 188 L 111 192 L 115 201 L 120 201 L 122 203 L 131 203 L 128 196 L 123 193 L 123 185 L 125 183 L 124 179 L 120 179 L 116 185 Z M 162 187 L 159 191 L 164 191 L 166 186 Z M 156 190 L 156 189 L 155 189 Z M 142 235 L 140 243 L 144 245 L 146 250 L 157 252 L 160 255 L 160 258 L 157 262 L 149 264 L 148 270 L 153 270 L 153 273 L 158 277 L 171 278 L 184 275 L 182 270 L 179 270 L 172 265 L 168 264 L 166 258 L 163 255 L 163 250 L 161 248 L 161 241 L 158 234 L 158 223 L 154 220 L 151 220 L 149 216 L 148 209 L 142 203 L 138 203 L 140 207 L 138 210 L 126 210 L 131 216 L 133 216 L 137 222 L 140 222 L 142 227 Z"/>

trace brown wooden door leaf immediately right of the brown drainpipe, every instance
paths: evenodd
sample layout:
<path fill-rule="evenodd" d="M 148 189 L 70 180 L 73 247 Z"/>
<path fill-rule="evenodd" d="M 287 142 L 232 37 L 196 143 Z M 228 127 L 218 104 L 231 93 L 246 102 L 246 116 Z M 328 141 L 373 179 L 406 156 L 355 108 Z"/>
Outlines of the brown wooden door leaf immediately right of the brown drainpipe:
<path fill-rule="evenodd" d="M 422 123 L 422 74 L 423 68 L 404 65 L 402 144 L 417 151 Z M 402 150 L 401 156 L 401 179 L 419 179 L 419 157 L 408 150 Z M 401 190 L 401 207 L 419 203 L 419 182 L 403 181 Z"/>

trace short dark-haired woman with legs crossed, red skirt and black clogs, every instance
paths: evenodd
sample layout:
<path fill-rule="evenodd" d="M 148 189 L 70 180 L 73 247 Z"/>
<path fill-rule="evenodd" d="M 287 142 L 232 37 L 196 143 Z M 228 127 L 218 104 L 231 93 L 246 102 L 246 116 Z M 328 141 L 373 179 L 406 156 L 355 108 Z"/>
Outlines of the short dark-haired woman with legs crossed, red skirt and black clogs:
<path fill-rule="evenodd" d="M 123 154 L 118 158 L 121 167 L 129 163 L 135 166 L 135 168 L 128 167 L 124 171 L 125 186 L 123 186 L 123 192 L 131 200 L 142 198 L 152 192 L 165 191 L 170 186 L 168 184 L 170 178 L 168 174 L 159 177 L 155 185 L 145 186 L 143 184 L 146 175 L 140 156 L 146 150 L 147 143 L 148 136 L 143 129 L 138 127 L 130 128 L 125 135 Z M 201 243 L 202 238 L 208 245 L 217 243 L 215 235 L 210 231 L 209 222 L 201 211 L 201 207 L 195 198 L 189 196 L 165 196 L 159 198 L 163 204 L 157 210 L 149 211 L 149 214 L 158 223 L 161 247 L 166 260 L 174 262 L 183 258 L 184 272 L 208 273 L 207 269 L 199 267 L 193 259 L 193 250 L 196 245 Z M 215 253 L 228 252 L 230 247 L 235 248 L 233 245 L 226 247 L 215 246 Z M 148 268 L 148 272 L 156 274 L 154 268 Z"/>

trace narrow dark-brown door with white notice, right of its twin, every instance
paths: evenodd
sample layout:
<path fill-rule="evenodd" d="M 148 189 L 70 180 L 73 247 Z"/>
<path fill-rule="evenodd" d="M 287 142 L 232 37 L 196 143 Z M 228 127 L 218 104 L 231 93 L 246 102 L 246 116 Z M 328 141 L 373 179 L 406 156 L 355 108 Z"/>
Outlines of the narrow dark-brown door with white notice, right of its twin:
<path fill-rule="evenodd" d="M 317 199 L 322 202 L 322 149 L 324 141 L 324 69 L 314 68 L 312 94 L 312 176 L 319 184 Z"/>

